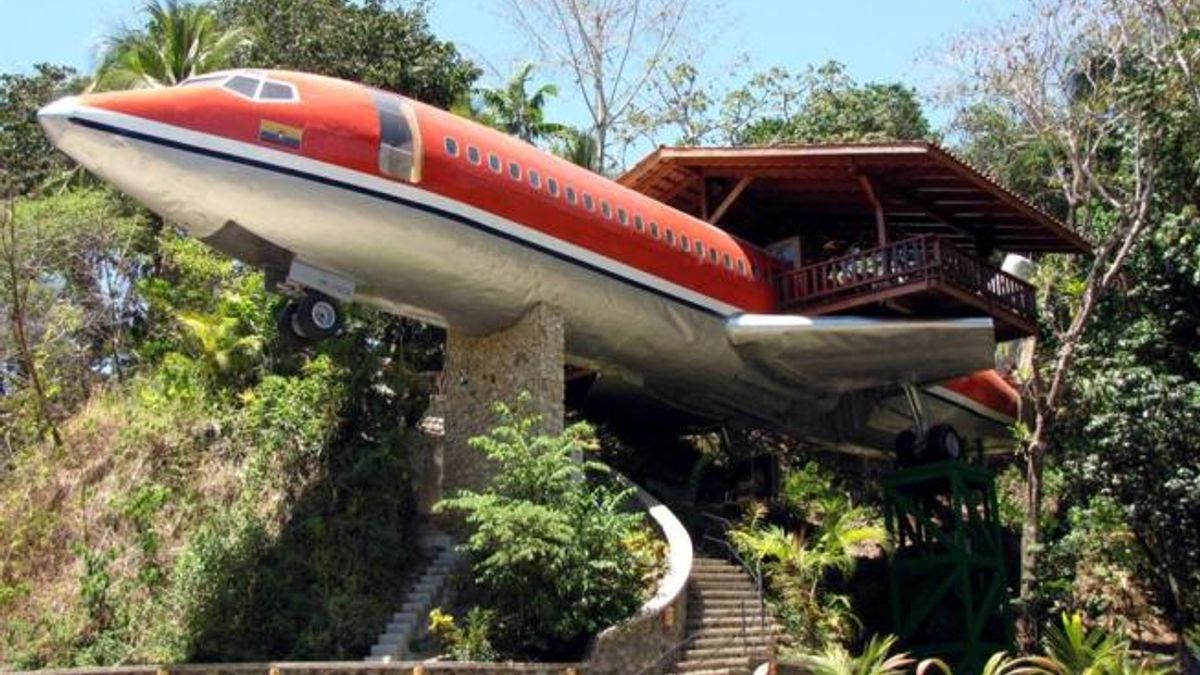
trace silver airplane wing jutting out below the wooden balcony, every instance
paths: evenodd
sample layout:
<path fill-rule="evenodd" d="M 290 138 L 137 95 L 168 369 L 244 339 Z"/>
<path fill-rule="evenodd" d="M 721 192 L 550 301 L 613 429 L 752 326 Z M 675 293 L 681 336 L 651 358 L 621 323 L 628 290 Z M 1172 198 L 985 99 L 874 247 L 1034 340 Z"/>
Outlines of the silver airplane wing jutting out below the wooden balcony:
<path fill-rule="evenodd" d="M 834 393 L 950 380 L 995 365 L 991 318 L 739 315 L 726 331 L 764 375 Z"/>

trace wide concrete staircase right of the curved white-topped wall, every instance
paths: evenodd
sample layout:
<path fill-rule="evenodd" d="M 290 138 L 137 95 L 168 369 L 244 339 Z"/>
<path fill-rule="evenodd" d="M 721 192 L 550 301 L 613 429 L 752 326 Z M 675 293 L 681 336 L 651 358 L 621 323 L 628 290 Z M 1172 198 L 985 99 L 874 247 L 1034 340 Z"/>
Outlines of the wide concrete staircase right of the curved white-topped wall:
<path fill-rule="evenodd" d="M 758 611 L 754 580 L 740 567 L 697 556 L 688 584 L 688 641 L 667 673 L 748 675 L 768 661 L 780 626 Z"/>

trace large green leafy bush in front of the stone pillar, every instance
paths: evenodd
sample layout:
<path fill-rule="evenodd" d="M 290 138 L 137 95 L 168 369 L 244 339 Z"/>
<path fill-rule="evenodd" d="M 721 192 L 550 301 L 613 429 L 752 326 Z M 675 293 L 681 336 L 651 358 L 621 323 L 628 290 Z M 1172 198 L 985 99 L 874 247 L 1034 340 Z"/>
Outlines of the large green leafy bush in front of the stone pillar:
<path fill-rule="evenodd" d="M 589 426 L 545 436 L 520 406 L 496 411 L 498 425 L 470 440 L 496 462 L 494 477 L 438 508 L 463 514 L 470 528 L 466 548 L 481 604 L 496 613 L 493 644 L 523 656 L 577 656 L 646 597 L 655 561 L 632 543 L 642 516 L 624 510 L 631 491 L 604 480 L 604 465 L 576 460 L 594 449 Z"/>

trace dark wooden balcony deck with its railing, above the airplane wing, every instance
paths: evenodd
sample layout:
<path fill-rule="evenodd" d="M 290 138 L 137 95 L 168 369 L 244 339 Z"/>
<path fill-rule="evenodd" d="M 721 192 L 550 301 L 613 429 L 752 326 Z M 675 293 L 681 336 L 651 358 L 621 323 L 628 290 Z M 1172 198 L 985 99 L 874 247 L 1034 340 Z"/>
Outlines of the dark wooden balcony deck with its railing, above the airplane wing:
<path fill-rule="evenodd" d="M 1037 331 L 1030 283 L 936 235 L 894 241 L 776 277 L 780 309 L 827 315 L 990 316 L 996 339 Z"/>

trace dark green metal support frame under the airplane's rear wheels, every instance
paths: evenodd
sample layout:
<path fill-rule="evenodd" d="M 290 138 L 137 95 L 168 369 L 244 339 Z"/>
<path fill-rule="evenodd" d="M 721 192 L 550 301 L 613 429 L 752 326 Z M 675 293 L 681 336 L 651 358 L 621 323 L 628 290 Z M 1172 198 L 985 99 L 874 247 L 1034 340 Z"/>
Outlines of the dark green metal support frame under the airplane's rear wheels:
<path fill-rule="evenodd" d="M 965 461 L 883 478 L 895 550 L 888 565 L 893 629 L 917 656 L 978 673 L 1013 643 L 996 485 Z"/>

